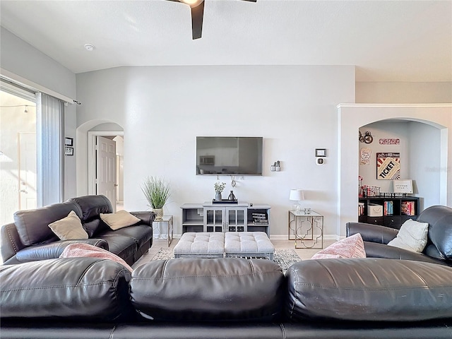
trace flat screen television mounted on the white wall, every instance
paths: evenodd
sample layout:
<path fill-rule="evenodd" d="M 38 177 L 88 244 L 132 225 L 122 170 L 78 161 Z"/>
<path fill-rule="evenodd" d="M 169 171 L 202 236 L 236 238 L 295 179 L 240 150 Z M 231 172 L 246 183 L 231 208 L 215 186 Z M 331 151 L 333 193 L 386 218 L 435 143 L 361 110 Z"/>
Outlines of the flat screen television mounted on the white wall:
<path fill-rule="evenodd" d="M 262 175 L 263 138 L 197 136 L 196 174 Z"/>

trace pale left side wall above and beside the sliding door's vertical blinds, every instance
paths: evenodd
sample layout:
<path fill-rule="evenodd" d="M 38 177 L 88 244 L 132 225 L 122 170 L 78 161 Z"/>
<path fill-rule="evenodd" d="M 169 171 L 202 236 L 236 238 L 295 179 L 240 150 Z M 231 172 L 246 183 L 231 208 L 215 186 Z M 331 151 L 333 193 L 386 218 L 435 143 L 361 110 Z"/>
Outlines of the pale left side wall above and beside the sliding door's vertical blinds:
<path fill-rule="evenodd" d="M 67 97 L 76 97 L 76 75 L 13 33 L 0 28 L 1 69 Z M 76 137 L 76 107 L 65 107 L 65 134 Z M 64 197 L 76 195 L 76 157 L 64 157 Z"/>

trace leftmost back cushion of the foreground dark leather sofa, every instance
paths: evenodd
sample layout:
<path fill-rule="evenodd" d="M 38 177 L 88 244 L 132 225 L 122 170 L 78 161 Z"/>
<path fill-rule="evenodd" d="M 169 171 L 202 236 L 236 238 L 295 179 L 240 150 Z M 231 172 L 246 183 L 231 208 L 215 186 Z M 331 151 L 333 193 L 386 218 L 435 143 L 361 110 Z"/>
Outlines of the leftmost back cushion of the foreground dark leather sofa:
<path fill-rule="evenodd" d="M 1 266 L 1 317 L 20 318 L 22 322 L 30 318 L 86 322 L 129 319 L 134 313 L 129 301 L 130 277 L 121 264 L 99 258 Z"/>

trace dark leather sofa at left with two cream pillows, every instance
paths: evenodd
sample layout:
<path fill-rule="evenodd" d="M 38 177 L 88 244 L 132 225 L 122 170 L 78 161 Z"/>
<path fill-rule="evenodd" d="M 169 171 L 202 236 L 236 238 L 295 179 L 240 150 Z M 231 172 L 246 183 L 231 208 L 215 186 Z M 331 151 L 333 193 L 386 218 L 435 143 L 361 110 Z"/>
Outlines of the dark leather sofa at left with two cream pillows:
<path fill-rule="evenodd" d="M 49 228 L 50 223 L 65 218 L 71 210 L 81 219 L 89 239 L 60 240 Z M 153 212 L 131 212 L 140 221 L 115 231 L 100 220 L 100 213 L 112 213 L 112 203 L 102 195 L 80 196 L 35 210 L 19 210 L 14 213 L 13 223 L 1 227 L 4 263 L 58 258 L 69 244 L 85 243 L 107 249 L 132 265 L 152 246 Z"/>

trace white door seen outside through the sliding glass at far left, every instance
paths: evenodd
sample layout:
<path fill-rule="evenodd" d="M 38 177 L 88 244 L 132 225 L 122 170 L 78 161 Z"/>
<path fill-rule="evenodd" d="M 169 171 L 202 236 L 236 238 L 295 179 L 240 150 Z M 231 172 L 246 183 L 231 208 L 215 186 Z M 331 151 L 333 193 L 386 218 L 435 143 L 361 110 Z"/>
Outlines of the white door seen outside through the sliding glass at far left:
<path fill-rule="evenodd" d="M 19 133 L 19 209 L 36 208 L 36 133 Z"/>

